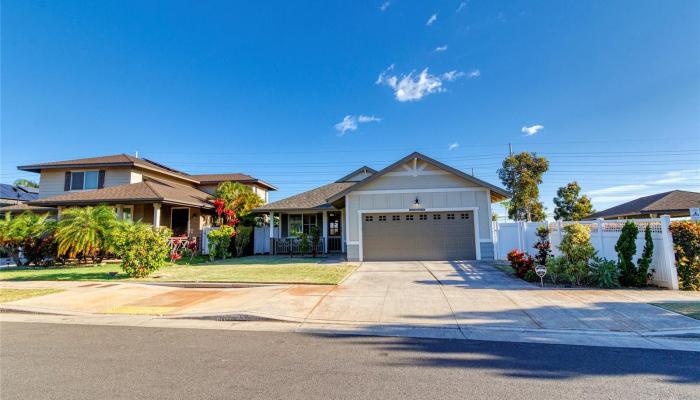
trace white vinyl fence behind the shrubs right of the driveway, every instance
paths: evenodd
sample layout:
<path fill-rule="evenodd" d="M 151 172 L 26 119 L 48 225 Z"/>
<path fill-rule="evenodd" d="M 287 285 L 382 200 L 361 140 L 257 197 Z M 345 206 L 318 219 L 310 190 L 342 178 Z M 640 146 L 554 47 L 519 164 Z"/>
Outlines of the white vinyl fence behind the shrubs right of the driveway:
<path fill-rule="evenodd" d="M 602 220 L 595 221 L 557 221 L 557 222 L 512 222 L 494 224 L 494 238 L 496 238 L 495 252 L 496 259 L 505 260 L 508 252 L 513 249 L 535 255 L 537 250 L 534 246 L 537 243 L 537 228 L 547 224 L 549 228 L 549 241 L 552 245 L 554 255 L 561 255 L 559 244 L 564 234 L 563 228 L 566 225 L 580 223 L 587 226 L 591 232 L 591 244 L 598 252 L 598 256 L 609 260 L 617 260 L 615 244 L 620 237 L 620 231 L 625 222 L 632 221 L 639 228 L 637 236 L 637 254 L 634 257 L 641 257 L 644 249 L 644 230 L 646 226 L 651 227 L 651 236 L 654 242 L 654 255 L 652 257 L 651 268 L 654 270 L 652 283 L 669 289 L 678 290 L 678 275 L 676 272 L 675 255 L 673 253 L 673 241 L 671 232 L 668 229 L 671 218 L 667 215 L 661 218 L 638 219 L 638 220 Z"/>

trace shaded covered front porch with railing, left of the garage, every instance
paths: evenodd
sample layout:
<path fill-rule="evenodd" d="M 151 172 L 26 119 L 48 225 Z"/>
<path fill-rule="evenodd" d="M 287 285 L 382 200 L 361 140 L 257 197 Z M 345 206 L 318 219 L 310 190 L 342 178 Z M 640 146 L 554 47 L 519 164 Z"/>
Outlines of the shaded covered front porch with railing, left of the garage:
<path fill-rule="evenodd" d="M 302 234 L 307 236 L 306 252 L 317 254 L 345 253 L 345 211 L 328 210 L 294 210 L 270 212 L 267 221 L 272 221 L 274 229 L 266 226 L 261 233 L 266 234 L 269 246 L 260 252 L 269 254 L 301 254 L 304 250 Z M 317 243 L 313 243 L 312 232 L 319 234 Z"/>

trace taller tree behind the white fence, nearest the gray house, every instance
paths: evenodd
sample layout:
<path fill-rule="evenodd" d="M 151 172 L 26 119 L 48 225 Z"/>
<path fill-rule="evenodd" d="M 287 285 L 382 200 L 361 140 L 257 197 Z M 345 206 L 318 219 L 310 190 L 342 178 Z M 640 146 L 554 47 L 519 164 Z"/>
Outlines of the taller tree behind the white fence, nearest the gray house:
<path fill-rule="evenodd" d="M 537 185 L 549 169 L 549 162 L 536 153 L 511 154 L 503 160 L 498 177 L 513 193 L 508 203 L 508 217 L 516 221 L 544 221 L 544 206 L 539 201 Z"/>

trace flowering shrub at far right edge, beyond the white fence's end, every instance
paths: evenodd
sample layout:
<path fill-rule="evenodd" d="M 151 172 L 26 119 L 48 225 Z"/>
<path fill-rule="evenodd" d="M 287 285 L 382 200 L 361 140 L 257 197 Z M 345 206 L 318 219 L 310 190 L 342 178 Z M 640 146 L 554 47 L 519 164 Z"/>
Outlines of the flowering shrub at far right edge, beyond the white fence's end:
<path fill-rule="evenodd" d="M 674 221 L 671 234 L 680 288 L 700 290 L 700 222 Z"/>

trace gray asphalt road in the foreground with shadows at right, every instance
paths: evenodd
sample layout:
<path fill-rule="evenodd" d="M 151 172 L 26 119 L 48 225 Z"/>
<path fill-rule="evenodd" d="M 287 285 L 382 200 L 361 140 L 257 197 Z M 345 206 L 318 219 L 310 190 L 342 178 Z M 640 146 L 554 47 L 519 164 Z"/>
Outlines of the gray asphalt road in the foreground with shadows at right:
<path fill-rule="evenodd" d="M 700 353 L 0 324 L 9 399 L 691 399 Z"/>

